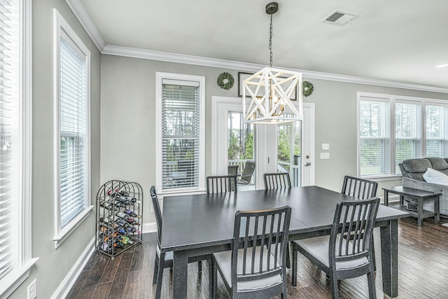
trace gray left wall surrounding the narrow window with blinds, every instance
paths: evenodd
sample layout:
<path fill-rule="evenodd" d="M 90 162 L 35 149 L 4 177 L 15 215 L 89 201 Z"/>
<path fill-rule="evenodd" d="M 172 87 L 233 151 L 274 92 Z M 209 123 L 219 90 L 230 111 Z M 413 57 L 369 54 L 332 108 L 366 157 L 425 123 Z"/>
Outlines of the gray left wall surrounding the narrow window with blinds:
<path fill-rule="evenodd" d="M 54 122 L 53 122 L 53 18 L 57 8 L 91 52 L 92 203 L 99 188 L 100 53 L 62 0 L 33 1 L 33 175 L 32 256 L 39 258 L 30 277 L 10 296 L 27 298 L 27 286 L 37 279 L 38 298 L 50 298 L 94 236 L 94 211 L 55 249 L 54 237 Z"/>

